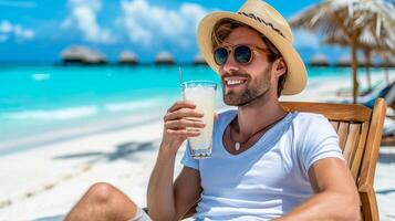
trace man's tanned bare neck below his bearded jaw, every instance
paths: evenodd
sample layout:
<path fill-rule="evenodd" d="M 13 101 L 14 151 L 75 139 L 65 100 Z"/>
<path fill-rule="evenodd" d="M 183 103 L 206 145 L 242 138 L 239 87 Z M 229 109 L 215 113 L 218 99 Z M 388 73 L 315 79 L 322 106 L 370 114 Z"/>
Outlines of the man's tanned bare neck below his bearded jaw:
<path fill-rule="evenodd" d="M 248 137 L 284 117 L 285 114 L 277 97 L 262 97 L 256 103 L 238 108 L 238 133 Z"/>

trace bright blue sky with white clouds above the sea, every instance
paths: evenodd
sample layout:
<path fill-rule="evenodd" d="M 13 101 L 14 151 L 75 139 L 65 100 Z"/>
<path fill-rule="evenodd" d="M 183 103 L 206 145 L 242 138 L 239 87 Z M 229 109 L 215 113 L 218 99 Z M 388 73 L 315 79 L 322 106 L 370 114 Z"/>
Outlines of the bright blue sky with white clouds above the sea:
<path fill-rule="evenodd" d="M 315 0 L 268 0 L 285 19 Z M 59 62 L 70 45 L 87 45 L 116 62 L 129 50 L 152 62 L 167 51 L 177 62 L 198 54 L 196 28 L 211 11 L 237 11 L 243 0 L 0 0 L 0 62 Z M 346 51 L 320 43 L 320 36 L 293 30 L 302 59 Z"/>

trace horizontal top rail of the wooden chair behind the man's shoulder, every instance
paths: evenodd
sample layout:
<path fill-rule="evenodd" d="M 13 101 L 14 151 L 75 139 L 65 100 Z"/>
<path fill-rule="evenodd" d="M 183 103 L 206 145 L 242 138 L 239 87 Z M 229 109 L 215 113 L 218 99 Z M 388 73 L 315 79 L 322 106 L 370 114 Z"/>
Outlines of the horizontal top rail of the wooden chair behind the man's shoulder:
<path fill-rule="evenodd" d="M 325 104 L 309 102 L 281 102 L 287 110 L 322 114 L 331 120 L 368 122 L 372 110 L 365 106 L 353 104 Z"/>

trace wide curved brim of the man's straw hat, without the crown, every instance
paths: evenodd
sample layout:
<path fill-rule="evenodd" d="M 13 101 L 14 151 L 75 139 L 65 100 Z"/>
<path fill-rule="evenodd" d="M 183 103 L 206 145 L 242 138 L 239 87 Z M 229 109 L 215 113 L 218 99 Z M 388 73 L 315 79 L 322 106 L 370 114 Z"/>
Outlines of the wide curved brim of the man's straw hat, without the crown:
<path fill-rule="evenodd" d="M 201 54 L 206 59 L 207 63 L 211 66 L 211 69 L 217 72 L 217 74 L 218 65 L 214 61 L 212 56 L 211 32 L 216 23 L 221 19 L 232 19 L 256 29 L 257 31 L 264 34 L 281 52 L 281 55 L 283 56 L 288 66 L 288 74 L 281 94 L 293 95 L 303 91 L 308 81 L 306 70 L 302 59 L 293 48 L 292 43 L 274 32 L 271 28 L 263 25 L 262 23 L 251 18 L 232 12 L 210 13 L 200 21 L 198 27 L 198 43 Z"/>

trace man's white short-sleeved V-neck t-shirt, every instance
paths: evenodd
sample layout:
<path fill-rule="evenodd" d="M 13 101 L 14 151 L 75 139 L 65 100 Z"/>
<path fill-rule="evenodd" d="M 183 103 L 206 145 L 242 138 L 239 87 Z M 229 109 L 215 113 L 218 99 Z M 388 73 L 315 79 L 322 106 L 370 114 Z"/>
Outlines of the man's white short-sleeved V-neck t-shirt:
<path fill-rule="evenodd" d="M 337 134 L 322 115 L 289 113 L 252 147 L 231 155 L 222 136 L 236 110 L 221 113 L 214 126 L 212 157 L 181 162 L 199 171 L 201 200 L 196 220 L 271 220 L 313 194 L 309 168 L 319 159 L 343 159 Z"/>

